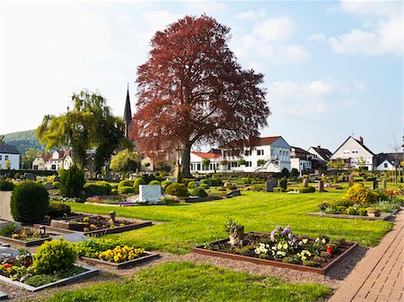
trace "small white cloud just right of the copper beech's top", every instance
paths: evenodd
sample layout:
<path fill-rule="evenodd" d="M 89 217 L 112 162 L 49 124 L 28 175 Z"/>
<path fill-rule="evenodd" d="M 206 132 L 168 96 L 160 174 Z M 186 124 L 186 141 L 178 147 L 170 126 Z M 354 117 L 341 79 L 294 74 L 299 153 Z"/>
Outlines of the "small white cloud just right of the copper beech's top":
<path fill-rule="evenodd" d="M 254 27 L 253 33 L 273 42 L 280 42 L 292 36 L 296 26 L 287 16 L 268 19 Z"/>

